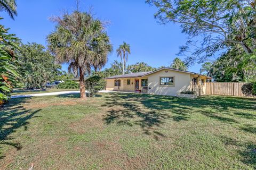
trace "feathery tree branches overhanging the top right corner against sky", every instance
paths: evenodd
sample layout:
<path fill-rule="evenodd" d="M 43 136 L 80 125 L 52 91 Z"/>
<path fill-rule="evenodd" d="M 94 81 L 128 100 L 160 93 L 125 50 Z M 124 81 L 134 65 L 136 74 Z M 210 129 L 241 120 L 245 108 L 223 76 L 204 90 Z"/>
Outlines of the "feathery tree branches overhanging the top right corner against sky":
<path fill-rule="evenodd" d="M 158 11 L 161 23 L 180 23 L 189 40 L 180 54 L 190 55 L 187 61 L 203 62 L 221 49 L 241 47 L 246 54 L 256 48 L 256 2 L 241 0 L 147 0 Z M 198 41 L 198 38 L 202 41 Z M 194 46 L 195 51 L 189 47 Z M 253 60 L 256 63 L 255 60 Z M 191 63 L 191 62 L 190 62 Z"/>

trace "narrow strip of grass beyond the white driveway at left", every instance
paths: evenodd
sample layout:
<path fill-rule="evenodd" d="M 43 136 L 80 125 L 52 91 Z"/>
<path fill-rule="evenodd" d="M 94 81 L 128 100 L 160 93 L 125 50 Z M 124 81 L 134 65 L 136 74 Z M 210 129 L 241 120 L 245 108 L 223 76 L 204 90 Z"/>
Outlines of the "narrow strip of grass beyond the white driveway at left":
<path fill-rule="evenodd" d="M 79 89 L 44 89 L 44 90 L 26 90 L 14 89 L 11 95 L 30 95 L 30 94 L 43 94 L 45 92 L 58 92 L 58 91 L 77 91 Z"/>

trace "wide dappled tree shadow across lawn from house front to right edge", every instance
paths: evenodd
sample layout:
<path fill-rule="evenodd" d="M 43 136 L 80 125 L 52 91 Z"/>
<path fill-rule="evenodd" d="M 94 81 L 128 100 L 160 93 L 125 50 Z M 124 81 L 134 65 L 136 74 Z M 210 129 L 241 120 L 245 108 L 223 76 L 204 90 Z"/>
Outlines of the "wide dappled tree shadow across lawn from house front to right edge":
<path fill-rule="evenodd" d="M 234 113 L 241 109 L 255 111 L 256 100 L 222 96 L 204 96 L 196 99 L 158 96 L 147 94 L 115 93 L 104 96 L 110 108 L 103 120 L 107 124 L 116 122 L 132 126 L 139 125 L 147 134 L 151 129 L 161 126 L 166 120 L 188 121 L 191 114 L 199 113 L 224 123 L 237 123 L 237 117 L 254 118 L 254 114 Z M 210 109 L 210 111 L 209 111 Z M 139 119 L 139 121 L 138 121 Z M 247 129 L 252 133 L 254 128 Z"/>

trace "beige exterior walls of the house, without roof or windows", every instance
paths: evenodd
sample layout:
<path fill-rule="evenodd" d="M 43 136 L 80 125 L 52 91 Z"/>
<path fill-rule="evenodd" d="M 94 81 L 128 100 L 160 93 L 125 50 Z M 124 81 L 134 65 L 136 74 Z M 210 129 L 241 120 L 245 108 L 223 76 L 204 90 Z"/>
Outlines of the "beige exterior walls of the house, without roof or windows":
<path fill-rule="evenodd" d="M 160 78 L 161 77 L 174 77 L 174 85 L 173 86 L 161 86 Z M 121 79 L 107 79 L 106 80 L 106 90 L 113 91 L 135 91 L 135 79 L 139 79 L 139 89 L 142 90 L 141 87 L 141 79 L 148 79 L 148 94 L 152 95 L 169 95 L 176 96 L 180 94 L 181 91 L 191 91 L 194 88 L 194 91 L 197 91 L 199 95 L 199 88 L 201 88 L 201 95 L 205 95 L 205 84 L 199 87 L 200 78 L 204 79 L 206 82 L 206 77 L 199 77 L 196 74 L 188 74 L 185 72 L 178 72 L 172 70 L 161 70 L 155 72 L 153 74 L 147 75 L 147 77 L 141 78 L 121 78 Z M 193 86 L 193 78 L 197 78 L 197 85 Z M 130 79 L 130 84 L 127 84 L 127 79 Z M 121 80 L 121 86 L 115 86 L 115 80 Z"/>

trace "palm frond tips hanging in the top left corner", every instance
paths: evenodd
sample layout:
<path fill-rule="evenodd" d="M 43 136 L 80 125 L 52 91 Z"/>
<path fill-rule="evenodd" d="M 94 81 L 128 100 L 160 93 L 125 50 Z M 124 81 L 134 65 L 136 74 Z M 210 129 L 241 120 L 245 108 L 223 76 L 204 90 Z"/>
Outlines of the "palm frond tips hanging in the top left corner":
<path fill-rule="evenodd" d="M 16 0 L 0 0 L 0 11 L 6 11 L 12 19 L 17 16 L 16 8 Z"/>

